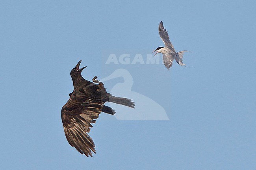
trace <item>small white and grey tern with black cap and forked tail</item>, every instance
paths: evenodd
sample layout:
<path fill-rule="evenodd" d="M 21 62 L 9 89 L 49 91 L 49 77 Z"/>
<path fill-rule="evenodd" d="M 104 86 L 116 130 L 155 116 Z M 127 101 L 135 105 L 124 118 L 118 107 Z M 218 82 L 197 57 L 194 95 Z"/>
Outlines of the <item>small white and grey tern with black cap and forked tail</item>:
<path fill-rule="evenodd" d="M 190 52 L 190 51 L 184 50 L 184 51 L 179 51 L 178 53 L 175 51 L 173 44 L 170 41 L 168 32 L 163 27 L 162 21 L 159 24 L 158 31 L 159 31 L 160 38 L 165 43 L 165 47 L 158 47 L 155 50 L 156 51 L 155 55 L 157 53 L 163 54 L 163 64 L 168 69 L 172 67 L 174 59 L 178 64 L 180 64 L 181 66 L 184 66 L 185 64 L 182 62 L 183 55 L 185 52 Z M 155 51 L 153 51 L 152 53 L 154 53 Z"/>

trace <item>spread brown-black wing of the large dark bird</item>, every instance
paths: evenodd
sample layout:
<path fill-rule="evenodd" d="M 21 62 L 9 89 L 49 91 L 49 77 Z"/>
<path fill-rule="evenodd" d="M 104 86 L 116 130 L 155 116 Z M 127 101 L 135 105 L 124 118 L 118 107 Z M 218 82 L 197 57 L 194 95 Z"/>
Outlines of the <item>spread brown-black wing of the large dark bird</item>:
<path fill-rule="evenodd" d="M 88 133 L 93 127 L 91 124 L 95 122 L 94 119 L 99 117 L 103 104 L 73 92 L 61 110 L 63 128 L 69 144 L 87 157 L 92 157 L 92 152 L 96 153 L 95 144 Z"/>

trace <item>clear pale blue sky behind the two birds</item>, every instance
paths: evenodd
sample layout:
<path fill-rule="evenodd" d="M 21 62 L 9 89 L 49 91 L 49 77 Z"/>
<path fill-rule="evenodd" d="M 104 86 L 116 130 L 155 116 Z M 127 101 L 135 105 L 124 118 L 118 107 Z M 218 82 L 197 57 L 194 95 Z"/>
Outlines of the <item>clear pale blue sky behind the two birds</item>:
<path fill-rule="evenodd" d="M 255 170 L 255 9 L 252 0 L 2 0 L 0 169 Z M 160 21 L 176 51 L 192 52 L 184 63 L 195 68 L 174 62 L 168 70 L 162 55 L 160 64 L 147 64 L 164 45 Z M 111 54 L 118 64 L 106 64 Z M 122 54 L 130 62 L 121 63 Z M 130 111 L 145 120 L 100 115 L 89 133 L 93 158 L 69 145 L 61 122 L 79 60 L 88 80 L 123 70 L 132 85 L 122 89 L 118 71 L 107 90 L 145 104 Z M 156 107 L 161 113 L 150 112 Z M 148 120 L 154 114 L 169 120 Z"/>

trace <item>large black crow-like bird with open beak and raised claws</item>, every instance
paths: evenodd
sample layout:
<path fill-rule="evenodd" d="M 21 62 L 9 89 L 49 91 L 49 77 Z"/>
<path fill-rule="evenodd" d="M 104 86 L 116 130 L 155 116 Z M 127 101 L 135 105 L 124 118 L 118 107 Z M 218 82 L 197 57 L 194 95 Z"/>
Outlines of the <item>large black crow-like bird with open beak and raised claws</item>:
<path fill-rule="evenodd" d="M 106 92 L 104 84 L 93 78 L 93 83 L 83 79 L 82 71 L 86 67 L 79 68 L 80 63 L 70 72 L 74 90 L 69 94 L 69 101 L 61 109 L 61 119 L 63 123 L 66 138 L 71 146 L 74 146 L 78 152 L 85 154 L 87 157 L 95 154 L 95 144 L 93 139 L 88 135 L 90 128 L 93 127 L 101 112 L 115 114 L 115 111 L 104 105 L 105 102 L 122 104 L 130 108 L 135 108 L 131 99 L 115 97 Z"/>

